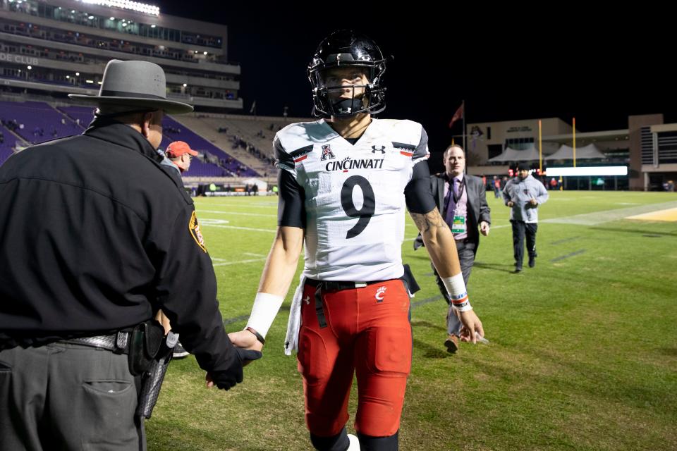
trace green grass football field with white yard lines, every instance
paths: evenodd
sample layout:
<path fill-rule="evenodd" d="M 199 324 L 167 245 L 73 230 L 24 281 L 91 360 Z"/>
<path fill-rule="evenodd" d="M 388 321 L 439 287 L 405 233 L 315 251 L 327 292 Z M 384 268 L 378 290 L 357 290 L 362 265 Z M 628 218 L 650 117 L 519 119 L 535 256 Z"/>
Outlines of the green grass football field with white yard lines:
<path fill-rule="evenodd" d="M 490 343 L 456 355 L 443 346 L 446 304 L 425 249 L 413 252 L 408 219 L 403 261 L 422 290 L 412 299 L 401 449 L 676 450 L 677 223 L 623 217 L 677 207 L 677 196 L 551 192 L 539 209 L 537 266 L 519 274 L 508 209 L 493 193 L 487 200 L 492 230 L 468 291 Z M 226 330 L 239 330 L 274 237 L 276 198 L 195 204 Z M 150 450 L 311 449 L 296 361 L 283 355 L 291 292 L 264 358 L 233 390 L 207 390 L 192 356 L 171 363 L 146 423 Z M 352 429 L 355 397 L 350 414 Z"/>

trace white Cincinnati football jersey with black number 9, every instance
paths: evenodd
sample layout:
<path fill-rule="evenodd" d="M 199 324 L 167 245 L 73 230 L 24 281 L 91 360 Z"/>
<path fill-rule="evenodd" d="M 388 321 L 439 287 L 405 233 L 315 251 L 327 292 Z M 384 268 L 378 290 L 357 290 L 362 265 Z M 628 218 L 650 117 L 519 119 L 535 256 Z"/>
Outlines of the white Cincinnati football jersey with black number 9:
<path fill-rule="evenodd" d="M 305 190 L 305 269 L 317 280 L 403 275 L 404 189 L 428 158 L 419 123 L 372 118 L 355 145 L 324 120 L 295 123 L 274 142 L 277 166 Z"/>

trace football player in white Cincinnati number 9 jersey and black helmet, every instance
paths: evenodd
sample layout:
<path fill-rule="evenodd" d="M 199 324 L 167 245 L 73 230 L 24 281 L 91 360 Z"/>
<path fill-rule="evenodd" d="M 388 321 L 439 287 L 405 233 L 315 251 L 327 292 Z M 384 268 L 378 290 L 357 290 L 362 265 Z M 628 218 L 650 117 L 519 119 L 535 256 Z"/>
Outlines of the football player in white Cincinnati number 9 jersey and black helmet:
<path fill-rule="evenodd" d="M 279 228 L 247 328 L 230 334 L 240 347 L 262 348 L 305 242 L 286 348 L 298 349 L 317 450 L 398 448 L 412 354 L 401 259 L 405 206 L 459 311 L 461 338 L 474 343 L 476 331 L 484 335 L 430 192 L 425 130 L 372 116 L 386 106 L 385 71 L 386 58 L 368 37 L 341 30 L 319 44 L 307 73 L 320 119 L 288 125 L 275 137 Z M 353 374 L 357 439 L 345 428 Z"/>

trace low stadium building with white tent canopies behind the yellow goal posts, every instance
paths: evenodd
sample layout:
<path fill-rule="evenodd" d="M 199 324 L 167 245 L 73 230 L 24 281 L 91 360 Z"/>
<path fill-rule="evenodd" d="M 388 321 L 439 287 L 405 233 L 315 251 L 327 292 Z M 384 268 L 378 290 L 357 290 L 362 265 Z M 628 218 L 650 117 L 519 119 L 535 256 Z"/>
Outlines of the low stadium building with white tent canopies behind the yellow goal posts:
<path fill-rule="evenodd" d="M 540 130 L 537 119 L 468 123 L 468 172 L 503 176 L 527 161 L 545 180 L 572 173 L 564 189 L 663 190 L 677 180 L 677 124 L 663 122 L 662 114 L 629 116 L 626 129 L 575 133 L 559 118 L 542 119 Z"/>

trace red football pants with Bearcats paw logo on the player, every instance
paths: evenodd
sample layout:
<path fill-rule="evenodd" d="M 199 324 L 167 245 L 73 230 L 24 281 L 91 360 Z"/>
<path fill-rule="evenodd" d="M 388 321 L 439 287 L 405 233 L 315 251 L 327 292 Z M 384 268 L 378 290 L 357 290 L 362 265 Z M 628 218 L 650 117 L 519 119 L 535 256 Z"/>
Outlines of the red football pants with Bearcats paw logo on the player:
<path fill-rule="evenodd" d="M 393 435 L 400 427 L 411 370 L 409 295 L 402 280 L 323 290 L 324 328 L 319 326 L 315 290 L 305 285 L 298 344 L 310 433 L 336 435 L 346 425 L 348 395 L 356 373 L 355 429 L 374 437 Z"/>

